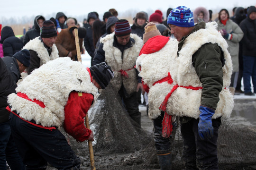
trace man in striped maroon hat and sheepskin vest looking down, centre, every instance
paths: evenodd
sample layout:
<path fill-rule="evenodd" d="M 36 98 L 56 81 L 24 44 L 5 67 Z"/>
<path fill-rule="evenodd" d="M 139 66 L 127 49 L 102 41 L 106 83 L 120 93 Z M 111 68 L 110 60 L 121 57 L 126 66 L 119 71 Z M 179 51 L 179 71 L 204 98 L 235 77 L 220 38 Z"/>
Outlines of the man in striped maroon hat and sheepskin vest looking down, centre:
<path fill-rule="evenodd" d="M 131 34 L 128 20 L 120 19 L 115 24 L 115 31 L 101 38 L 100 42 L 92 64 L 104 61 L 113 69 L 115 76 L 110 83 L 122 98 L 131 119 L 140 126 L 137 91 L 140 88 L 144 93 L 144 89 L 134 66 L 143 41 L 136 34 Z"/>

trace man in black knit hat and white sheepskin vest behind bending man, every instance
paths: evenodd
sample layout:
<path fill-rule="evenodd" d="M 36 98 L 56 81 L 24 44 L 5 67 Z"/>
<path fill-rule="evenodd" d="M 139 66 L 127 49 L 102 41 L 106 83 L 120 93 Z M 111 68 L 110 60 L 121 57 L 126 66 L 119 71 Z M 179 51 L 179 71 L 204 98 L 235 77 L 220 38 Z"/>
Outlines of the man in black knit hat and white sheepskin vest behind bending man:
<path fill-rule="evenodd" d="M 57 30 L 54 23 L 50 20 L 43 22 L 42 32 L 39 37 L 27 42 L 23 49 L 30 52 L 30 66 L 27 68 L 29 75 L 34 69 L 39 68 L 50 60 L 59 57 L 58 49 L 55 45 Z M 25 75 L 26 76 L 26 75 Z"/>

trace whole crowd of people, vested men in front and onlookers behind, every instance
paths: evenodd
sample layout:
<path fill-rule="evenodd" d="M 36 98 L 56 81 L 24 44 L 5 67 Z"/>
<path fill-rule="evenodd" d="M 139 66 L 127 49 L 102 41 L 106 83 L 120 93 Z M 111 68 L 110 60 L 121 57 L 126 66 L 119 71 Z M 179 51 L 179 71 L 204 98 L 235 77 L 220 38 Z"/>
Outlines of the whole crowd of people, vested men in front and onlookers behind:
<path fill-rule="evenodd" d="M 79 170 L 81 160 L 58 128 L 78 142 L 93 141 L 84 118 L 109 84 L 138 127 L 143 94 L 161 170 L 174 168 L 176 121 L 185 169 L 219 170 L 221 119 L 230 116 L 234 94 L 256 93 L 254 6 L 233 8 L 232 17 L 223 8 L 215 20 L 204 7 L 168 8 L 165 20 L 159 9 L 140 11 L 133 23 L 111 8 L 102 19 L 88 13 L 83 26 L 58 12 L 35 17 L 21 38 L 11 26 L 0 33 L 0 170 L 7 163 L 11 170 L 45 170 L 47 163 Z M 90 68 L 78 61 L 85 51 Z"/>

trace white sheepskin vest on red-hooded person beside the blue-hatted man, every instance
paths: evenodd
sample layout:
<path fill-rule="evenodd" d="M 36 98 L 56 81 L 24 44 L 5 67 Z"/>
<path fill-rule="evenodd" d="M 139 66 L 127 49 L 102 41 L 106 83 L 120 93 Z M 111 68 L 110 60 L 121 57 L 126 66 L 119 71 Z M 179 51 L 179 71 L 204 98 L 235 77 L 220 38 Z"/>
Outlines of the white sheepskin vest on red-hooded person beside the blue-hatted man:
<path fill-rule="evenodd" d="M 165 36 L 161 37 L 166 38 Z M 154 41 L 154 39 L 149 39 L 146 43 L 150 43 L 150 41 Z M 140 71 L 139 76 L 143 78 L 144 83 L 150 88 L 148 93 L 148 117 L 150 119 L 156 119 L 161 115 L 161 111 L 158 108 L 167 93 L 176 84 L 175 82 L 172 84 L 163 82 L 153 85 L 158 80 L 168 76 L 168 72 L 171 75 L 173 74 L 172 71 L 175 70 L 171 69 L 171 67 L 173 67 L 174 59 L 177 57 L 177 50 L 178 41 L 170 39 L 161 50 L 151 54 L 141 54 L 136 61 L 136 68 Z"/>

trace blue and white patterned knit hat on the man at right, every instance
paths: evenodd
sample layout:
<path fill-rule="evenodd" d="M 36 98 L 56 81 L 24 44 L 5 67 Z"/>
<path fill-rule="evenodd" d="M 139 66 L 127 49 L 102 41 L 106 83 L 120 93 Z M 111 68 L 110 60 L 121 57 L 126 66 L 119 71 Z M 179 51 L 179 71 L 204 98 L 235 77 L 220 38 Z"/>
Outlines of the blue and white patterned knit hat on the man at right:
<path fill-rule="evenodd" d="M 181 27 L 192 27 L 194 26 L 193 13 L 190 8 L 185 6 L 174 8 L 167 18 L 167 24 Z"/>

